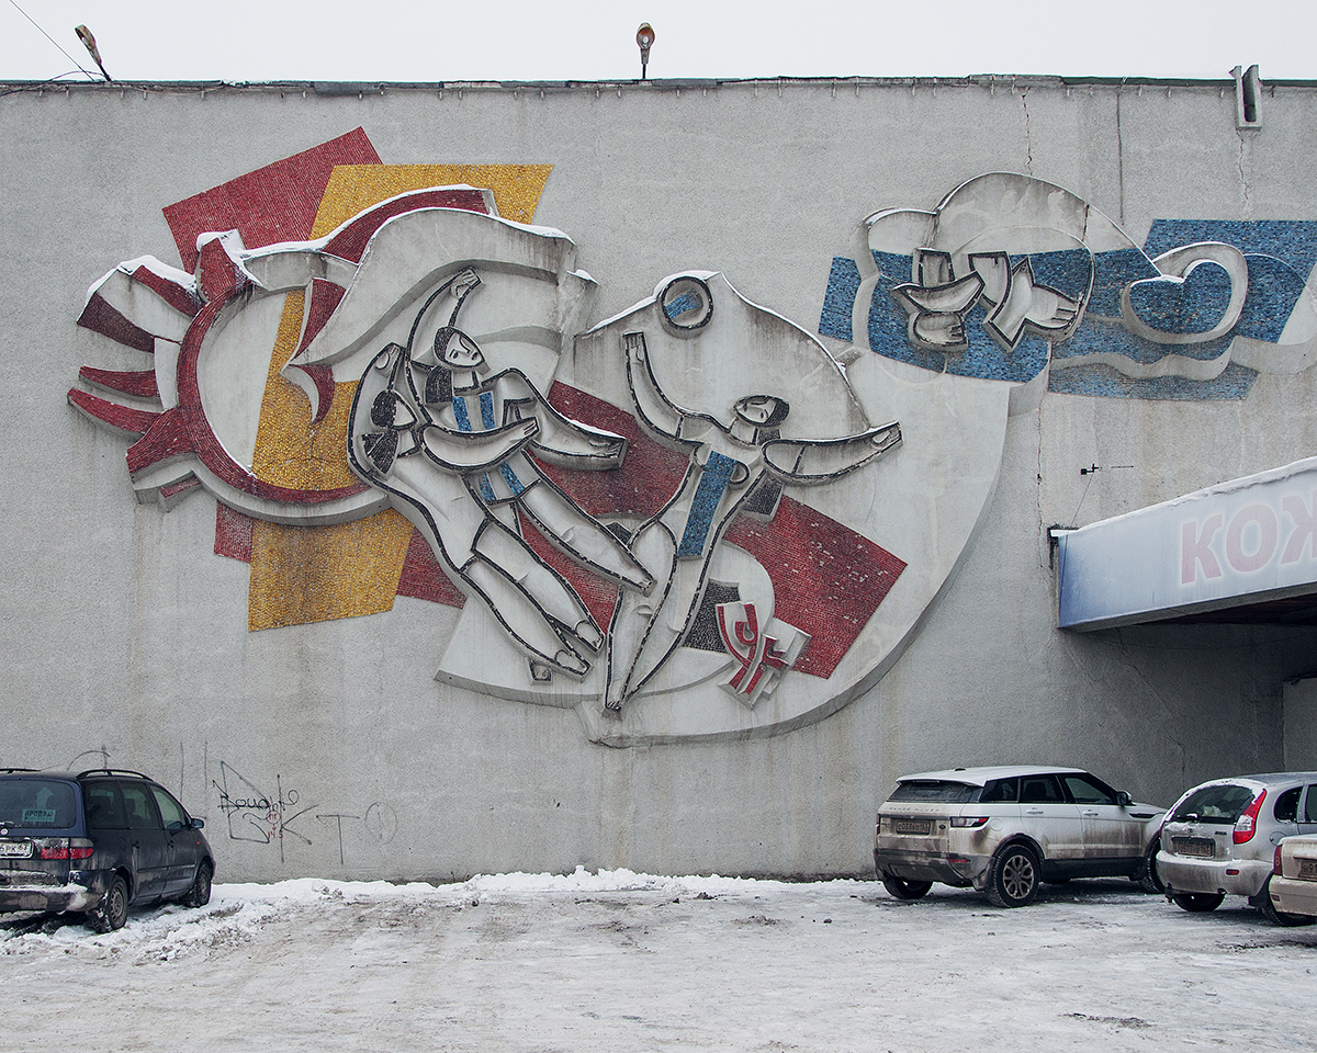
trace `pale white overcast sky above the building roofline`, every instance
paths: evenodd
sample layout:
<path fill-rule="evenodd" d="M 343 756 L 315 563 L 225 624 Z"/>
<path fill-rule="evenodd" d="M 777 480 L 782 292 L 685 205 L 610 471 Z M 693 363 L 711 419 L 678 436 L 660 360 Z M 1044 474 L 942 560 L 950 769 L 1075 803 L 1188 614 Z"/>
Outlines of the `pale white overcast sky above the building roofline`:
<path fill-rule="evenodd" d="M 1313 0 L 0 0 L 0 80 L 95 71 L 79 22 L 117 80 L 630 79 L 641 21 L 652 78 L 1317 80 Z"/>

